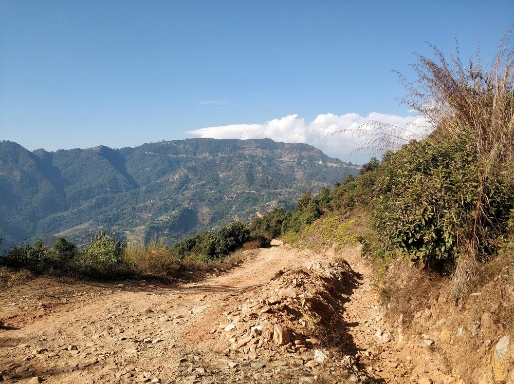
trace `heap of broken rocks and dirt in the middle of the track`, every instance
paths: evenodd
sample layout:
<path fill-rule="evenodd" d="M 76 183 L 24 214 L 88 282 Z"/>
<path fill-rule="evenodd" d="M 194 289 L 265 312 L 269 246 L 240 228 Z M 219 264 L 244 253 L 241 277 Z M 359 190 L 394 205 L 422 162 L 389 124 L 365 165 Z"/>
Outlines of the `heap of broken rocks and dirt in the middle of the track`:
<path fill-rule="evenodd" d="M 335 370 L 364 380 L 366 375 L 344 350 L 347 334 L 340 314 L 350 280 L 343 260 L 280 271 L 268 283 L 240 294 L 240 304 L 224 313 L 227 322 L 211 333 L 225 343 L 227 356 L 250 362 L 257 372 L 254 379 L 265 379 L 259 371 L 271 363 L 309 375 L 303 381 Z"/>

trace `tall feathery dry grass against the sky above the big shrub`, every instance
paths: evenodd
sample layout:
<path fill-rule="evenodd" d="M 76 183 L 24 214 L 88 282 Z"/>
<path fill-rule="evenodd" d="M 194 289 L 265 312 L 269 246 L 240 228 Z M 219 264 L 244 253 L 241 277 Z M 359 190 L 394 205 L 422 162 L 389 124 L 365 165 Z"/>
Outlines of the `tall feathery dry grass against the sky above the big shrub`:
<path fill-rule="evenodd" d="M 418 80 L 407 84 L 410 95 L 403 100 L 436 127 L 437 140 L 451 141 L 471 130 L 483 163 L 514 160 L 514 48 L 508 47 L 509 35 L 489 69 L 479 58 L 463 65 L 458 46 L 450 60 L 432 46 L 436 60 L 418 56 L 413 65 Z"/>

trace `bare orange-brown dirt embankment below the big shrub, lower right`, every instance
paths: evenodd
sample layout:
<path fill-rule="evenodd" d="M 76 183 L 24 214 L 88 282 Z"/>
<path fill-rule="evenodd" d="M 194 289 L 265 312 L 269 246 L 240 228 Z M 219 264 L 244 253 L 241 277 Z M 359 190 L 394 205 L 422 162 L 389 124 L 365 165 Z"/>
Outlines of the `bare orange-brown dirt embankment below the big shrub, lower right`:
<path fill-rule="evenodd" d="M 514 258 L 502 254 L 481 266 L 469 296 L 451 295 L 448 277 L 394 263 L 384 282 L 388 319 L 397 330 L 433 340 L 466 383 L 514 383 Z"/>

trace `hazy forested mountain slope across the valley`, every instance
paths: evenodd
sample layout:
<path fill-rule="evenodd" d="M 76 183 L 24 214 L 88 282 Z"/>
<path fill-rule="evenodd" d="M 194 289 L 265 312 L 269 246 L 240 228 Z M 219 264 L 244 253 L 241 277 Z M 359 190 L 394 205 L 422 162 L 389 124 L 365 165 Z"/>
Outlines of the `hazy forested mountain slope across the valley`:
<path fill-rule="evenodd" d="M 168 242 L 342 181 L 359 167 L 307 144 L 189 139 L 135 148 L 28 151 L 0 142 L 0 233 L 6 243 L 106 231 Z"/>

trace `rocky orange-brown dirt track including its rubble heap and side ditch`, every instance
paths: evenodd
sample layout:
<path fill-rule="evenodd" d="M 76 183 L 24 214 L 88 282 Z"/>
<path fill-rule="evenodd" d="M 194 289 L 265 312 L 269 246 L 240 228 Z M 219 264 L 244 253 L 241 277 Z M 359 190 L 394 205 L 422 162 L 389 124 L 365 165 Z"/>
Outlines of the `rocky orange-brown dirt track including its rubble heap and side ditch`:
<path fill-rule="evenodd" d="M 434 341 L 383 320 L 358 249 L 339 254 L 245 251 L 227 273 L 173 286 L 8 287 L 0 381 L 459 382 Z"/>

